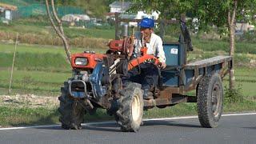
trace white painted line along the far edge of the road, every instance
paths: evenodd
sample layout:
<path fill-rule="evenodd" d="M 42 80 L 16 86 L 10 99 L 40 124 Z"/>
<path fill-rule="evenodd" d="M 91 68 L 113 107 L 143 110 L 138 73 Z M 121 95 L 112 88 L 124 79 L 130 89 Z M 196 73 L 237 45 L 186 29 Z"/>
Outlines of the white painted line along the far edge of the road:
<path fill-rule="evenodd" d="M 227 116 L 236 116 L 236 115 L 254 115 L 256 113 L 243 113 L 243 114 L 222 114 L 222 117 Z M 189 118 L 198 118 L 198 116 L 188 116 L 188 117 L 174 117 L 174 118 L 150 118 L 150 119 L 143 119 L 144 122 L 148 121 L 161 121 L 161 120 L 174 120 L 174 119 L 189 119 Z M 88 122 L 83 123 L 82 126 L 90 126 L 96 124 L 110 124 L 115 123 L 111 122 Z M 0 128 L 0 130 L 22 130 L 22 129 L 31 129 L 31 128 L 44 128 L 44 127 L 58 127 L 61 125 L 46 125 L 46 126 L 22 126 L 22 127 L 8 127 L 8 128 Z"/>

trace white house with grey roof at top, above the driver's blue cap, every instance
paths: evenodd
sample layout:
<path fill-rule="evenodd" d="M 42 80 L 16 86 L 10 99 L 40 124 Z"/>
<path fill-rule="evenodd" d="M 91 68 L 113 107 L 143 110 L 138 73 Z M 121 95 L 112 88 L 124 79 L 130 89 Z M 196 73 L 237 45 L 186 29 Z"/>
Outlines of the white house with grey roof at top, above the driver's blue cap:
<path fill-rule="evenodd" d="M 118 2 L 115 1 L 110 4 L 110 13 L 124 13 L 131 6 L 131 2 Z"/>

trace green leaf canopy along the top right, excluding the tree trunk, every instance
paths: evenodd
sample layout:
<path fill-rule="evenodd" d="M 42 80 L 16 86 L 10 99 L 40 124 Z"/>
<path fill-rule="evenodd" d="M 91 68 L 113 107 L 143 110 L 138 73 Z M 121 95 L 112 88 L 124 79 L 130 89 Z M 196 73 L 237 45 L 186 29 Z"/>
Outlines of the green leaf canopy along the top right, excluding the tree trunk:
<path fill-rule="evenodd" d="M 234 10 L 234 1 L 181 1 L 181 0 L 133 0 L 134 5 L 131 11 L 159 10 L 162 18 L 180 18 L 180 14 L 187 14 L 190 17 L 200 19 L 200 29 L 207 29 L 209 25 L 228 27 L 228 12 Z M 238 1 L 236 18 L 238 21 L 255 22 L 256 1 Z M 232 14 L 232 13 L 231 13 Z M 223 32 L 223 30 L 221 30 Z"/>

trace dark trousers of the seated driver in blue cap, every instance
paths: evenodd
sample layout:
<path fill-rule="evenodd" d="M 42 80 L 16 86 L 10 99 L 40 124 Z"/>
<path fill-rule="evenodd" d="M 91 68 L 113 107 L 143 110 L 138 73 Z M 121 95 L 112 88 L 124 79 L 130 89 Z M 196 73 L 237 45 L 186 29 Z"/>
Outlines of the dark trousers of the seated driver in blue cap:
<path fill-rule="evenodd" d="M 122 77 L 122 83 L 126 86 L 127 82 L 137 82 L 142 84 L 142 90 L 158 85 L 158 68 L 152 63 L 142 63 L 128 71 Z"/>

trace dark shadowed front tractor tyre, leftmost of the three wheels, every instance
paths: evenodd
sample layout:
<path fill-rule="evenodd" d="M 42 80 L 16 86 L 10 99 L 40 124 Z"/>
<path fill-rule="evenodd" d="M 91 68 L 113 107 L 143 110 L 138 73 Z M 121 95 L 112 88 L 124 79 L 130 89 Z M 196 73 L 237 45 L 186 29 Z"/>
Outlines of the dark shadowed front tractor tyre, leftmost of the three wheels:
<path fill-rule="evenodd" d="M 62 122 L 62 128 L 66 130 L 81 130 L 81 123 L 84 122 L 86 113 L 84 102 L 70 97 L 68 82 L 64 82 L 64 87 L 61 88 L 61 91 L 62 95 L 58 97 L 60 102 L 58 112 L 61 114 L 59 121 Z"/>

